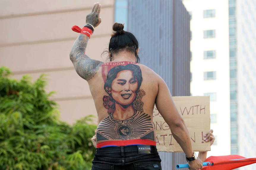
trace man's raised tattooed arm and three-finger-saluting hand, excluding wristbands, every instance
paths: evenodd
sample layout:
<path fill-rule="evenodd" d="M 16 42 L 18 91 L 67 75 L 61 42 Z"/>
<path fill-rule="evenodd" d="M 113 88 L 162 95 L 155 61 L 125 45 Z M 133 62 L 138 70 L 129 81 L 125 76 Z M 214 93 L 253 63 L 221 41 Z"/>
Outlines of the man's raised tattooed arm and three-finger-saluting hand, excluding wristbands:
<path fill-rule="evenodd" d="M 101 23 L 101 18 L 99 17 L 100 9 L 101 5 L 95 3 L 91 13 L 86 16 L 86 24 L 97 27 Z M 78 75 L 87 81 L 97 73 L 99 66 L 102 64 L 101 61 L 90 59 L 89 56 L 84 54 L 88 41 L 88 35 L 80 34 L 73 44 L 69 55 Z"/>

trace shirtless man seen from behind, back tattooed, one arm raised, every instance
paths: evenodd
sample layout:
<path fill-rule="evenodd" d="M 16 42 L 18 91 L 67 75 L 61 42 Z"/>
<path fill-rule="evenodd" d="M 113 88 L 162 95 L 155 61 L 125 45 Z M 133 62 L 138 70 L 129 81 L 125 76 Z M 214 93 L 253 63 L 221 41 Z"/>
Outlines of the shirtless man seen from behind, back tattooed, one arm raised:
<path fill-rule="evenodd" d="M 190 169 L 202 168 L 200 158 L 193 157 L 189 131 L 166 83 L 153 70 L 139 64 L 138 41 L 123 30 L 123 24 L 113 25 L 109 62 L 84 54 L 94 28 L 101 23 L 100 9 L 101 5 L 95 3 L 70 52 L 76 72 L 89 84 L 98 114 L 92 170 L 161 169 L 152 122 L 154 105 L 186 154 Z"/>

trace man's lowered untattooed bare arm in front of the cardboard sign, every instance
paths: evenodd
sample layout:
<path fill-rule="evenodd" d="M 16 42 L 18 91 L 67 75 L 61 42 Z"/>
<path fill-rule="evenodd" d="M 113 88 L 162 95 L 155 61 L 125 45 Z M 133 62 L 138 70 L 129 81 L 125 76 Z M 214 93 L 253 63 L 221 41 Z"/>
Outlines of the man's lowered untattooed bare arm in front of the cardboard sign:
<path fill-rule="evenodd" d="M 184 120 L 178 113 L 166 83 L 161 78 L 159 80 L 158 94 L 155 103 L 157 110 L 170 126 L 173 137 L 181 146 L 186 156 L 191 158 L 193 156 L 193 149 L 189 131 Z M 189 161 L 188 164 L 191 170 L 198 170 L 203 166 L 203 162 L 200 158 L 197 158 L 195 161 Z"/>

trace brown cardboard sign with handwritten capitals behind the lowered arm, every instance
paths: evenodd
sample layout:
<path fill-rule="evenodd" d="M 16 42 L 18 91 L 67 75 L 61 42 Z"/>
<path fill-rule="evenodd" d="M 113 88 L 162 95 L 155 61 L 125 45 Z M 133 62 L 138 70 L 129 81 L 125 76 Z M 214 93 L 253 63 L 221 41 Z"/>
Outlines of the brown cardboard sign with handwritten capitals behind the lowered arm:
<path fill-rule="evenodd" d="M 173 97 L 173 101 L 189 129 L 193 150 L 211 150 L 210 142 L 203 140 L 203 135 L 210 130 L 210 97 L 179 96 Z M 156 130 L 158 151 L 183 152 L 156 106 L 153 112 L 153 123 Z"/>

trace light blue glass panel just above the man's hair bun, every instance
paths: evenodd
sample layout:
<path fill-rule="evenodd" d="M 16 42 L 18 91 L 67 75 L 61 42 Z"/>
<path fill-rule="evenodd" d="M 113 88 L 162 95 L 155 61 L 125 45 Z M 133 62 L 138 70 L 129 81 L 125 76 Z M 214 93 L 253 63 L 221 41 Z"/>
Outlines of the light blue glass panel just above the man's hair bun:
<path fill-rule="evenodd" d="M 128 0 L 115 1 L 115 22 L 124 23 L 124 30 L 128 27 Z"/>

